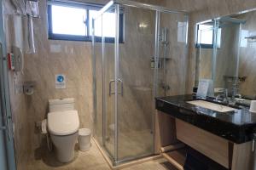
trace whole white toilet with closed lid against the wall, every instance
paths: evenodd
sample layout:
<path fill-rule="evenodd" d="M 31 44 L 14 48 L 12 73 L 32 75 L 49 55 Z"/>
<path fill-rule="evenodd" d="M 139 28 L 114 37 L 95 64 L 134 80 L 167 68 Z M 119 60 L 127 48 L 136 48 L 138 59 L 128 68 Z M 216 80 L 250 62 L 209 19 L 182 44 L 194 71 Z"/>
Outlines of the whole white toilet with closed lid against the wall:
<path fill-rule="evenodd" d="M 58 161 L 72 161 L 79 137 L 79 114 L 73 98 L 49 99 L 47 127 Z"/>

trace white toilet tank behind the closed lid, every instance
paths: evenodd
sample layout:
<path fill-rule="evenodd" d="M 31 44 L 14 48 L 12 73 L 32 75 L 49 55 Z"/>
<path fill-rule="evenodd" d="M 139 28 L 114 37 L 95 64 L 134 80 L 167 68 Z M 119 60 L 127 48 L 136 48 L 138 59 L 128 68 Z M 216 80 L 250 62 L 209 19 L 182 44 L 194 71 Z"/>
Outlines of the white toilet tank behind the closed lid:
<path fill-rule="evenodd" d="M 73 110 L 74 110 L 73 98 L 49 99 L 49 112 L 73 111 Z"/>

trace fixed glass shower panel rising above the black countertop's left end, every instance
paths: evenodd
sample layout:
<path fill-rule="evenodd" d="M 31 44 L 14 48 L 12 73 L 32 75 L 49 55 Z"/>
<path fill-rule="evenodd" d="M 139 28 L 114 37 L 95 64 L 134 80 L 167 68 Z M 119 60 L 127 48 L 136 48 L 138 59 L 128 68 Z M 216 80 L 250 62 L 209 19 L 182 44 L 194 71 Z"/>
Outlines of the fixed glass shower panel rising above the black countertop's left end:
<path fill-rule="evenodd" d="M 187 16 L 160 13 L 158 96 L 185 94 Z"/>

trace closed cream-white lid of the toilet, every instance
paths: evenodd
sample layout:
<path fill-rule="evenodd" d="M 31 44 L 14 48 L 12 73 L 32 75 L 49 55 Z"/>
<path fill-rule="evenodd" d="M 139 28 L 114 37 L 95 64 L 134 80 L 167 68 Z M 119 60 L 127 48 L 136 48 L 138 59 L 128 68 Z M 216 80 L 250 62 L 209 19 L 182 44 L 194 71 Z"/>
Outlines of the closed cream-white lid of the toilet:
<path fill-rule="evenodd" d="M 49 133 L 68 135 L 79 130 L 78 111 L 55 111 L 47 115 Z"/>

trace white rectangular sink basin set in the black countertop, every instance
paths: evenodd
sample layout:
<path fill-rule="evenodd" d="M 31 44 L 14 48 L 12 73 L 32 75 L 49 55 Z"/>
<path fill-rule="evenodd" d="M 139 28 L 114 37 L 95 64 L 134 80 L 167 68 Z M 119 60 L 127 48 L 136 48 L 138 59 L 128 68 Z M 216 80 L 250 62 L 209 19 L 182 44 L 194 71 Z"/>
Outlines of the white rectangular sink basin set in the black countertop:
<path fill-rule="evenodd" d="M 227 111 L 236 111 L 236 109 L 225 106 L 225 105 L 218 105 L 214 104 L 205 100 L 193 100 L 193 101 L 187 101 L 187 103 L 192 104 L 192 105 L 198 105 L 200 107 L 204 107 L 207 109 L 210 109 L 212 111 L 218 111 L 218 112 L 227 112 Z"/>

